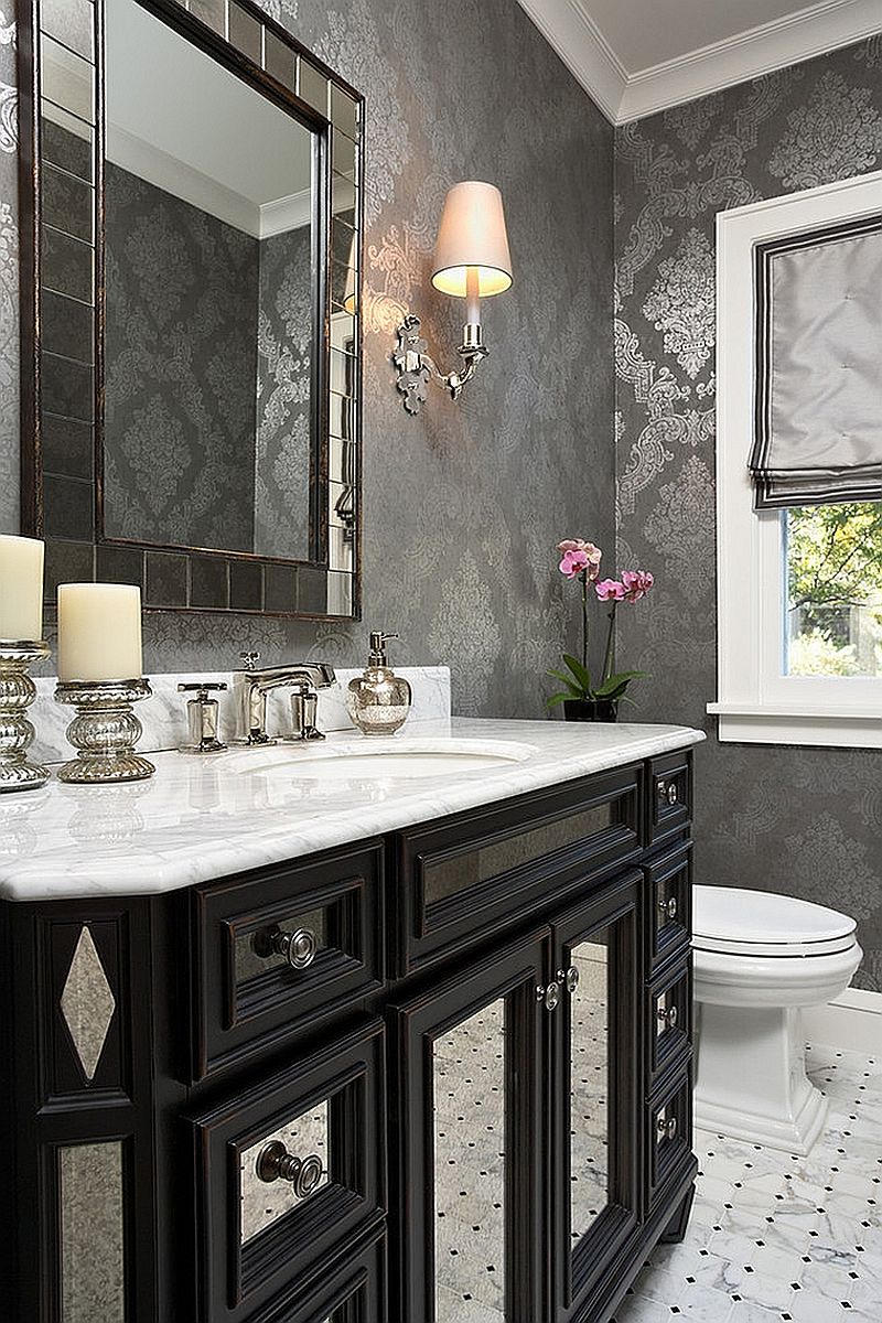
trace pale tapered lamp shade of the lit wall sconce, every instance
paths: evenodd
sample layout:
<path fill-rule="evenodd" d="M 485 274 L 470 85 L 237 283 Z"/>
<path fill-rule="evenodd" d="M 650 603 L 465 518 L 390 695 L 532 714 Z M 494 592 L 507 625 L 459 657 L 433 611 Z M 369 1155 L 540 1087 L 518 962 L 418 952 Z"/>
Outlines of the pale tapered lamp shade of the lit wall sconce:
<path fill-rule="evenodd" d="M 432 284 L 464 299 L 469 267 L 477 271 L 480 298 L 502 294 L 512 283 L 502 194 L 496 185 L 476 180 L 454 184 L 444 200 Z"/>

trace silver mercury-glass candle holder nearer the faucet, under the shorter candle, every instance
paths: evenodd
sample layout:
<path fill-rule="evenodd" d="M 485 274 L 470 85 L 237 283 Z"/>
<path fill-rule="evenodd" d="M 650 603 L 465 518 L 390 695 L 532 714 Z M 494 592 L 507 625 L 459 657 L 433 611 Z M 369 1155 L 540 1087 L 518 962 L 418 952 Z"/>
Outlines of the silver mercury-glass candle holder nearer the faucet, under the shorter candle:
<path fill-rule="evenodd" d="M 77 708 L 67 726 L 77 757 L 61 767 L 58 779 L 99 786 L 152 777 L 153 763 L 135 753 L 143 730 L 132 712 L 132 703 L 151 693 L 149 680 L 60 680 L 57 701 Z"/>

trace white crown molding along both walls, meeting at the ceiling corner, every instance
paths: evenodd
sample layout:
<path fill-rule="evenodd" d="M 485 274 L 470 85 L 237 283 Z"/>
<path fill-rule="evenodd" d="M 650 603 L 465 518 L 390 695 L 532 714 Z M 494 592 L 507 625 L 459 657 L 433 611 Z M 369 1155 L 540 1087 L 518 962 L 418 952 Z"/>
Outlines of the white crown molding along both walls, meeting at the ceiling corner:
<path fill-rule="evenodd" d="M 819 0 L 796 13 L 628 73 L 583 0 L 518 0 L 612 124 L 655 115 L 882 30 L 879 0 Z"/>

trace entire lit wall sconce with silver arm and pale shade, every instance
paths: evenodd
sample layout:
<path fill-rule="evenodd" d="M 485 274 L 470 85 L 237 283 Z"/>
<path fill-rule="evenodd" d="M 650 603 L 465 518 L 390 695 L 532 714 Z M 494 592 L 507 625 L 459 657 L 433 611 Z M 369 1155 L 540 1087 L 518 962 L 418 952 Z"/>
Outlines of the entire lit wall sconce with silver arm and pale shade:
<path fill-rule="evenodd" d="M 391 361 L 398 369 L 395 385 L 409 414 L 418 414 L 424 405 L 430 380 L 458 400 L 489 352 L 481 336 L 480 300 L 502 294 L 512 284 L 502 194 L 493 184 L 468 180 L 454 184 L 448 192 L 435 241 L 432 284 L 443 294 L 465 299 L 463 343 L 458 349 L 464 366 L 459 372 L 440 372 L 426 352 L 419 318 L 406 316 L 398 327 L 398 348 Z"/>

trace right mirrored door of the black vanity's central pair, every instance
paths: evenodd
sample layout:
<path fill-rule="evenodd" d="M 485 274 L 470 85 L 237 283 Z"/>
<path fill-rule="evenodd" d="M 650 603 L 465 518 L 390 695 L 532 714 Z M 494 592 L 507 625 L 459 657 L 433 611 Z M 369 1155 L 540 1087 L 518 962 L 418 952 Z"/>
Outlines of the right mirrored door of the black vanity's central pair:
<path fill-rule="evenodd" d="M 578 1316 L 636 1226 L 639 886 L 629 873 L 554 925 L 563 1011 L 553 1069 L 558 1323 Z"/>

